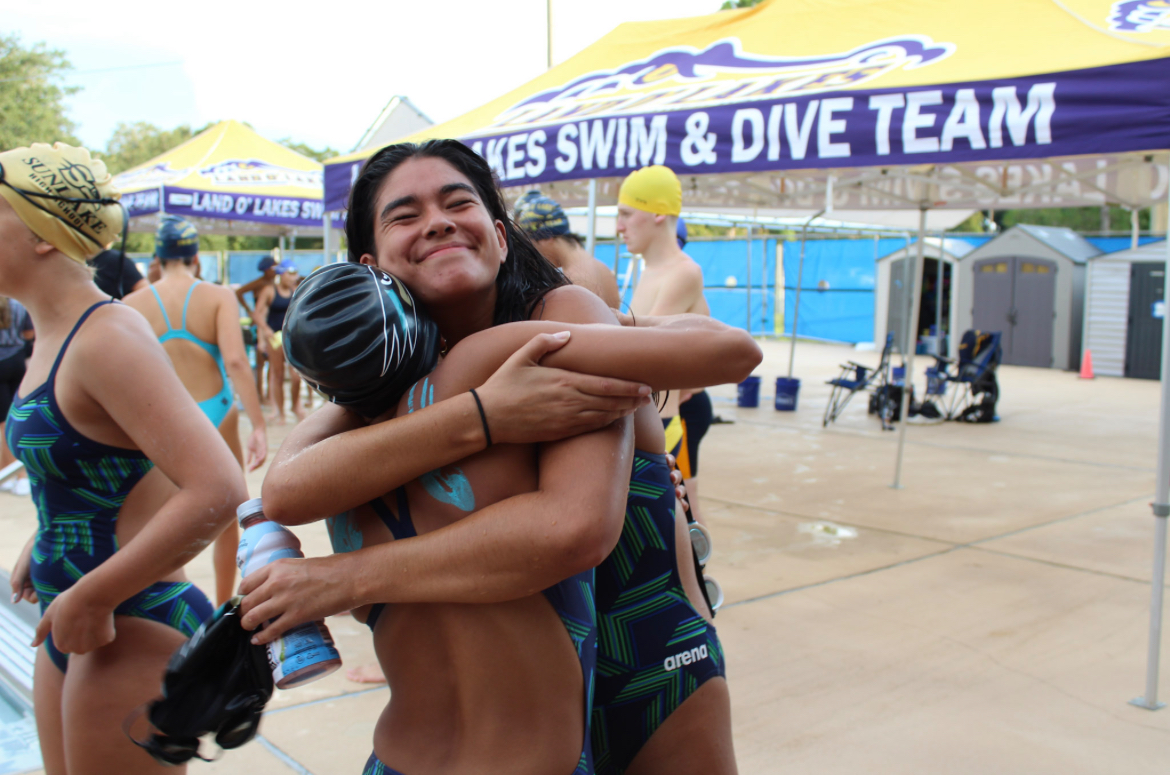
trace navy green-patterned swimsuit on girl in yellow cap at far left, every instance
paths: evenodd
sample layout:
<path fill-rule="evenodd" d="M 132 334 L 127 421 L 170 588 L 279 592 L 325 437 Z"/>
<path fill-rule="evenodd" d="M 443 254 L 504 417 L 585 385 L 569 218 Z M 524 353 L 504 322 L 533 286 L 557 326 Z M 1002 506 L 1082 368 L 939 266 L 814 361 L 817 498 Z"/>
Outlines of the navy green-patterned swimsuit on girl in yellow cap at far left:
<path fill-rule="evenodd" d="M 85 310 L 66 337 L 48 379 L 8 411 L 8 448 L 25 464 L 36 503 L 37 530 L 30 575 L 41 613 L 57 595 L 118 550 L 118 512 L 135 485 L 153 467 L 138 450 L 95 441 L 69 425 L 57 405 L 55 382 L 61 359 L 90 314 Z M 156 582 L 125 601 L 115 613 L 170 625 L 191 637 L 212 615 L 212 604 L 188 582 Z M 53 664 L 66 672 L 69 657 L 44 642 Z"/>

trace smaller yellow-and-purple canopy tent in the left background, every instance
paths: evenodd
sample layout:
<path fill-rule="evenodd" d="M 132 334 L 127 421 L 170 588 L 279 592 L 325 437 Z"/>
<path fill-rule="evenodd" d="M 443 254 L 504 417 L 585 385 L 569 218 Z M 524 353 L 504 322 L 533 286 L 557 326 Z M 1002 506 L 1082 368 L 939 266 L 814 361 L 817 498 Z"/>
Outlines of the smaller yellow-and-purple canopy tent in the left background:
<path fill-rule="evenodd" d="M 115 178 L 131 229 L 160 213 L 205 233 L 302 234 L 322 228 L 322 165 L 236 121 L 223 121 Z"/>

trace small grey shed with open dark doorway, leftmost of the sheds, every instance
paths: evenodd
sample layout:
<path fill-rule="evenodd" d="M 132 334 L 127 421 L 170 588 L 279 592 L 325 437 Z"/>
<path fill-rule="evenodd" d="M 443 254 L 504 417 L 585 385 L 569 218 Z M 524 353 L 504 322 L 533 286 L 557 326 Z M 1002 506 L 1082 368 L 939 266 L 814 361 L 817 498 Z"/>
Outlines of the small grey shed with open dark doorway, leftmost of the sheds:
<path fill-rule="evenodd" d="M 951 336 L 952 310 L 955 309 L 955 267 L 958 260 L 970 253 L 970 242 L 957 239 L 938 239 L 928 236 L 922 245 L 922 299 L 918 304 L 920 332 L 931 330 L 937 327 L 934 335 L 923 337 L 927 351 L 944 352 L 948 347 L 940 347 L 942 343 L 954 345 L 956 337 Z M 874 293 L 874 342 L 880 347 L 886 341 L 886 334 L 894 334 L 894 347 L 899 352 L 906 352 L 906 334 L 902 321 L 906 318 L 906 294 L 902 292 L 906 282 L 906 259 L 910 259 L 910 269 L 914 268 L 914 260 L 917 256 L 918 242 L 915 240 L 909 246 L 889 253 L 878 259 L 875 293 Z M 938 268 L 942 267 L 942 275 Z M 942 283 L 942 296 L 940 297 L 940 281 Z M 941 323 L 941 325 L 938 325 Z M 962 332 L 962 331 L 959 331 Z M 941 338 L 938 338 L 941 337 Z"/>

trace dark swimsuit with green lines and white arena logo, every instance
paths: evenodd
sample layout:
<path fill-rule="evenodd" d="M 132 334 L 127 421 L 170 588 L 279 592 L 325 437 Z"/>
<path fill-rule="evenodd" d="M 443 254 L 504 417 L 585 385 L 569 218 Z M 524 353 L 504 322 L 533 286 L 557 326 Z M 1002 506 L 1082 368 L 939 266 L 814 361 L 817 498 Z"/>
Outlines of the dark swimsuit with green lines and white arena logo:
<path fill-rule="evenodd" d="M 666 455 L 634 451 L 626 521 L 597 568 L 593 762 L 625 773 L 651 735 L 700 686 L 724 675 L 715 626 L 679 576 L 675 493 Z"/>

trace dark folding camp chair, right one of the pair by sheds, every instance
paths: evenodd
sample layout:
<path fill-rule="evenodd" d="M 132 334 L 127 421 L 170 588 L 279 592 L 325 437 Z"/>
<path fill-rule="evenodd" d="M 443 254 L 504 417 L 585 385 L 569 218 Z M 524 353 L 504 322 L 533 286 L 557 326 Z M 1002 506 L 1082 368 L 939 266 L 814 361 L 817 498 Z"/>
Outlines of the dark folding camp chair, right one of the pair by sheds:
<path fill-rule="evenodd" d="M 963 423 L 993 423 L 996 402 L 999 400 L 999 382 L 996 369 L 1003 361 L 999 331 L 970 330 L 958 345 L 958 361 L 934 356 L 936 365 L 927 370 L 928 392 L 931 388 L 945 406 L 949 420 Z M 955 370 L 950 371 L 949 366 Z M 934 384 L 931 384 L 934 380 Z M 941 384 L 941 388 L 937 385 Z M 950 400 L 945 393 L 950 390 Z"/>

